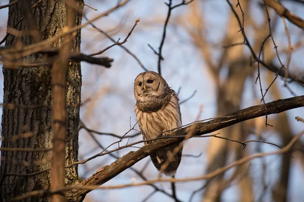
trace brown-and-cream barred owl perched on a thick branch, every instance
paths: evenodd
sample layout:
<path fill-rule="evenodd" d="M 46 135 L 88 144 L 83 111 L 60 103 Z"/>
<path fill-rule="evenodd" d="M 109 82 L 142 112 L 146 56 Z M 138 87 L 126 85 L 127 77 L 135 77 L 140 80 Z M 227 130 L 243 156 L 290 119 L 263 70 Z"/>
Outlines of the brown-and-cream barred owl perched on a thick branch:
<path fill-rule="evenodd" d="M 134 96 L 135 113 L 143 140 L 156 138 L 164 131 L 181 127 L 178 95 L 170 89 L 160 74 L 154 71 L 138 74 L 134 82 Z M 177 146 L 178 144 L 175 144 L 150 154 L 154 166 L 159 171 L 167 159 L 171 159 L 163 171 L 166 176 L 174 176 L 180 164 L 182 147 L 172 156 Z"/>

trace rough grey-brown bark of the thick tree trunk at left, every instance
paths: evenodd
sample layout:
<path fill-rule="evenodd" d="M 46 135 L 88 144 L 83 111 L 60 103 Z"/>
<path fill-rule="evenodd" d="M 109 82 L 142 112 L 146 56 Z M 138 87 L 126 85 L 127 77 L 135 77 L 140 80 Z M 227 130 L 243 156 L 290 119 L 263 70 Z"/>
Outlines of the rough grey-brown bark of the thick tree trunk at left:
<path fill-rule="evenodd" d="M 13 2 L 11 0 L 10 2 Z M 36 4 L 37 1 L 32 1 Z M 44 39 L 50 38 L 62 31 L 65 24 L 65 5 L 62 1 L 42 1 L 32 9 L 34 18 Z M 77 15 L 76 24 L 81 23 L 80 15 Z M 9 9 L 8 27 L 13 27 L 22 18 L 20 3 Z M 22 21 L 18 30 L 26 29 Z M 15 37 L 9 35 L 6 47 L 15 46 L 18 41 L 23 45 L 32 44 L 29 36 Z M 61 39 L 54 43 L 53 47 L 59 47 Z M 80 52 L 80 31 L 72 42 L 73 52 Z M 27 56 L 30 62 L 40 60 L 42 55 Z M 35 68 L 18 68 L 16 70 L 3 68 L 4 73 L 4 103 L 22 105 L 36 105 L 42 103 L 52 104 L 51 93 L 51 69 L 47 66 Z M 67 82 L 67 105 L 79 104 L 81 101 L 81 68 L 80 63 L 70 63 Z M 23 148 L 50 148 L 52 147 L 52 111 L 49 108 L 3 108 L 2 116 L 2 147 Z M 66 164 L 77 161 L 78 157 L 78 125 L 79 107 L 67 109 L 67 145 Z M 23 133 L 32 132 L 30 138 L 19 138 L 10 141 L 10 138 Z M 0 197 L 8 201 L 17 195 L 37 190 L 50 188 L 50 172 L 45 172 L 33 177 L 6 176 L 7 173 L 25 174 L 33 173 L 50 167 L 50 163 L 37 166 L 24 166 L 22 161 L 34 163 L 43 158 L 47 159 L 49 152 L 12 152 L 2 151 L 0 167 Z M 78 180 L 77 167 L 65 170 L 65 183 L 72 184 Z M 47 197 L 33 197 L 26 201 L 47 201 Z"/>

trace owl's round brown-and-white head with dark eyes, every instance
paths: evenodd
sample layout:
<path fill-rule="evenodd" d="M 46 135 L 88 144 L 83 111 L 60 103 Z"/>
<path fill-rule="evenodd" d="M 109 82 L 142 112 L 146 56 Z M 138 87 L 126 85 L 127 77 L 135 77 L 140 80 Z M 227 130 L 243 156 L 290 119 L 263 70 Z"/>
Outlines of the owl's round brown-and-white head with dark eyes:
<path fill-rule="evenodd" d="M 134 96 L 140 108 L 156 110 L 170 100 L 170 88 L 160 74 L 146 71 L 135 78 Z"/>

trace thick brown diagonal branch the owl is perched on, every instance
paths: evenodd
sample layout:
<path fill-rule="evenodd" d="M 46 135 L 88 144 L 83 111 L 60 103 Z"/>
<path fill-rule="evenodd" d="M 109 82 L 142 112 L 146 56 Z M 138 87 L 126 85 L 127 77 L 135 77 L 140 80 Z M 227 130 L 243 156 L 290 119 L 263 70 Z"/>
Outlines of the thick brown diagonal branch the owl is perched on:
<path fill-rule="evenodd" d="M 302 106 L 304 106 L 304 96 L 277 100 L 266 104 L 266 107 L 268 108 L 268 114 L 280 113 L 289 109 L 298 108 Z M 174 132 L 170 132 L 169 136 L 185 136 L 187 132 L 191 129 L 193 130 L 193 128 L 195 128 L 195 130 L 193 130 L 192 135 L 201 136 L 243 122 L 244 120 L 256 118 L 263 115 L 265 115 L 264 105 L 252 106 L 227 114 L 226 116 L 229 117 L 215 118 L 213 120 L 210 120 L 209 122 L 196 123 L 194 125 L 176 130 Z M 153 153 L 160 148 L 164 148 L 181 142 L 183 139 L 184 138 L 170 138 L 158 140 L 156 142 L 141 147 L 137 151 L 131 151 L 116 160 L 115 162 L 113 162 L 111 165 L 105 166 L 98 170 L 90 178 L 84 180 L 81 185 L 101 185 L 112 179 L 113 177 L 117 176 L 121 172 L 125 171 L 127 168 L 133 166 L 135 163 L 148 156 L 150 153 Z M 67 196 L 69 200 L 81 201 L 89 191 L 90 190 L 74 189 L 70 191 Z"/>

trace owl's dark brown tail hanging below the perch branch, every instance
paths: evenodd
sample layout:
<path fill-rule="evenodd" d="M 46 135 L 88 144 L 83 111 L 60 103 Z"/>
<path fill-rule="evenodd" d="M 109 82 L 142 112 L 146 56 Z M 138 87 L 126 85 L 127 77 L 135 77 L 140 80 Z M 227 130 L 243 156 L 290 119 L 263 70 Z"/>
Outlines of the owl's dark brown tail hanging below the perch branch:
<path fill-rule="evenodd" d="M 173 150 L 177 146 L 178 146 L 178 144 L 174 144 L 170 147 L 160 149 L 157 152 L 150 155 L 151 160 L 152 160 L 154 166 L 157 168 L 157 170 L 159 170 L 159 171 L 161 170 L 161 167 L 163 166 L 163 164 L 165 164 L 165 162 L 168 160 L 168 158 L 170 158 L 170 156 L 173 155 Z M 171 157 L 169 165 L 163 172 L 166 176 L 172 177 L 175 175 L 176 170 L 180 164 L 181 153 L 182 153 L 182 147 L 175 156 Z"/>

